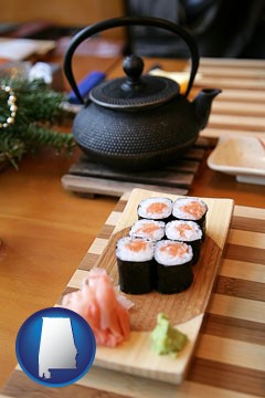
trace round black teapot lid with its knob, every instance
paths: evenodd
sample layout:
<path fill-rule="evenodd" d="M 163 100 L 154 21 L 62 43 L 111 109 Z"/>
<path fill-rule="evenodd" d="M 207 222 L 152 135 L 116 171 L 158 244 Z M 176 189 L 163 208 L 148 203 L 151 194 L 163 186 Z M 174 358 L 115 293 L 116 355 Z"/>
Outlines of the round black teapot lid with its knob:
<path fill-rule="evenodd" d="M 177 96 L 179 84 L 174 81 L 151 75 L 141 75 L 144 61 L 129 55 L 124 61 L 126 77 L 104 82 L 89 92 L 94 103 L 114 109 L 140 109 L 162 105 Z"/>

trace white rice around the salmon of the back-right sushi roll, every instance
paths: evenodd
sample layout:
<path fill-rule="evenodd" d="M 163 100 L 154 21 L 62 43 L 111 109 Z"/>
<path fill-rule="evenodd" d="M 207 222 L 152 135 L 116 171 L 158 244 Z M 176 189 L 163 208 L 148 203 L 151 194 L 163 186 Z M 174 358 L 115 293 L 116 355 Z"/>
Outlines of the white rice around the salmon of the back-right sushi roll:
<path fill-rule="evenodd" d="M 192 203 L 195 202 L 197 206 L 201 209 L 202 211 L 202 216 L 198 217 L 198 214 L 195 214 L 195 211 L 188 211 L 186 210 L 190 205 L 192 208 Z M 208 206 L 206 203 L 199 199 L 199 198 L 178 198 L 174 202 L 173 202 L 173 208 L 172 208 L 172 216 L 178 218 L 178 219 L 183 219 L 183 220 L 200 220 L 208 211 Z"/>

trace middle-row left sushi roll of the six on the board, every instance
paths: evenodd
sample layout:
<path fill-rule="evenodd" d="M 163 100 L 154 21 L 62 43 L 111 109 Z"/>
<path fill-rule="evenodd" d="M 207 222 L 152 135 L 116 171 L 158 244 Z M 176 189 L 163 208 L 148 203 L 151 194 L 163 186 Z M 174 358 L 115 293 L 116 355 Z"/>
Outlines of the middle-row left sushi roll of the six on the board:
<path fill-rule="evenodd" d="M 129 235 L 158 241 L 165 237 L 165 226 L 166 223 L 163 221 L 141 219 L 134 223 Z"/>

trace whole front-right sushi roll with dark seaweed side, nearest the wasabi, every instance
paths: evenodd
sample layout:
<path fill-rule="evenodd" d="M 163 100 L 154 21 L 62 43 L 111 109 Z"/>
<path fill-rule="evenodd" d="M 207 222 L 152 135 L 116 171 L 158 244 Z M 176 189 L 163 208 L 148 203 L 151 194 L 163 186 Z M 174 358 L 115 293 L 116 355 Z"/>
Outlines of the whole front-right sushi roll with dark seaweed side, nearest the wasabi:
<path fill-rule="evenodd" d="M 155 245 L 156 290 L 172 294 L 187 290 L 193 281 L 192 248 L 183 242 L 162 240 Z"/>

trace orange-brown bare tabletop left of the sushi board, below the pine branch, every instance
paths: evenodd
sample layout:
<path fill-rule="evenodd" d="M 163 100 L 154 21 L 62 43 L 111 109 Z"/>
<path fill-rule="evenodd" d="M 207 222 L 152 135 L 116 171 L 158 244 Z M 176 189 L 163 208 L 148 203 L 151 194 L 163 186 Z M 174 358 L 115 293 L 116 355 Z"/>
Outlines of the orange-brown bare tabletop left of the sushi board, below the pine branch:
<path fill-rule="evenodd" d="M 19 327 L 56 302 L 116 205 L 64 191 L 60 178 L 75 156 L 41 150 L 0 172 L 0 385 L 17 363 Z"/>

